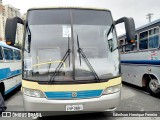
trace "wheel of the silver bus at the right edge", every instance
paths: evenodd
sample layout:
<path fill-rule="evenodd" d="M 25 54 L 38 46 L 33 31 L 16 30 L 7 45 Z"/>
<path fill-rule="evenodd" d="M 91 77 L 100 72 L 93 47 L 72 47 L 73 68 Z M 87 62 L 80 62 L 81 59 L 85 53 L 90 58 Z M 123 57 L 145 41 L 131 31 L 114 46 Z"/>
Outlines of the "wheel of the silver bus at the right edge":
<path fill-rule="evenodd" d="M 159 86 L 160 84 L 158 83 L 158 80 L 153 78 L 148 82 L 147 89 L 152 96 L 158 97 L 160 95 Z"/>

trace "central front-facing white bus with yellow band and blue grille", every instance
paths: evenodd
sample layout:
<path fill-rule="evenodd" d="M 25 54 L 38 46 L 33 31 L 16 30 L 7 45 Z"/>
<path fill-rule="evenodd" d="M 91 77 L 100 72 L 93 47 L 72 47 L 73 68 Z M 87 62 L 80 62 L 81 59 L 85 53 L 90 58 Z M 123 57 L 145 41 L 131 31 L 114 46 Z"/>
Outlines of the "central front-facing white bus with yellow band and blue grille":
<path fill-rule="evenodd" d="M 8 34 L 16 21 L 25 26 L 22 91 L 26 111 L 111 111 L 119 105 L 115 25 L 125 23 L 128 42 L 134 39 L 135 26 L 132 18 L 113 21 L 108 9 L 96 8 L 99 3 L 33 8 L 24 23 L 20 18 L 7 20 Z"/>

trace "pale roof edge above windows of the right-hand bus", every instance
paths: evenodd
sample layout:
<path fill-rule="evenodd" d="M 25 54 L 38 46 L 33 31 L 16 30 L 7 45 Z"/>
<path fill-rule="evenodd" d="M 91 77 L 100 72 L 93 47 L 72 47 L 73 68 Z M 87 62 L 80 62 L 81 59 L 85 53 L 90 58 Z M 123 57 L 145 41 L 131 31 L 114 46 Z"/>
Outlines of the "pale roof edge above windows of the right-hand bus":
<path fill-rule="evenodd" d="M 157 24 L 157 23 L 160 23 L 160 19 L 157 19 L 157 20 L 155 20 L 155 21 L 153 21 L 153 22 L 150 22 L 150 23 L 148 23 L 148 24 L 145 24 L 145 25 L 143 25 L 143 26 L 140 26 L 140 27 L 136 28 L 136 31 L 142 30 L 142 29 L 144 29 L 144 28 L 147 28 L 147 27 L 152 26 L 152 25 Z M 125 35 L 126 35 L 126 34 L 122 34 L 122 35 L 120 35 L 120 36 L 118 36 L 118 37 L 119 37 L 119 38 L 120 38 L 120 37 L 124 37 Z"/>

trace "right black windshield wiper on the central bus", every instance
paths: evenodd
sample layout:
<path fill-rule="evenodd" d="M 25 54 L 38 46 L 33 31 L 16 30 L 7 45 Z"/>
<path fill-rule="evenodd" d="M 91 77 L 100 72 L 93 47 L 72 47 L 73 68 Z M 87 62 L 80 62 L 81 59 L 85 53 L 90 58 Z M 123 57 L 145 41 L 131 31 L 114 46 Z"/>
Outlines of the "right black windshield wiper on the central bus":
<path fill-rule="evenodd" d="M 81 57 L 82 57 L 83 61 L 86 63 L 86 65 L 88 66 L 90 71 L 93 73 L 93 75 L 95 77 L 95 80 L 97 82 L 100 82 L 100 79 L 99 79 L 97 73 L 95 72 L 94 68 L 92 67 L 91 63 L 89 62 L 89 60 L 87 59 L 86 55 L 84 54 L 82 48 L 80 47 L 78 35 L 77 35 L 77 46 L 78 46 L 78 50 L 77 51 L 79 53 L 80 65 L 81 65 Z"/>

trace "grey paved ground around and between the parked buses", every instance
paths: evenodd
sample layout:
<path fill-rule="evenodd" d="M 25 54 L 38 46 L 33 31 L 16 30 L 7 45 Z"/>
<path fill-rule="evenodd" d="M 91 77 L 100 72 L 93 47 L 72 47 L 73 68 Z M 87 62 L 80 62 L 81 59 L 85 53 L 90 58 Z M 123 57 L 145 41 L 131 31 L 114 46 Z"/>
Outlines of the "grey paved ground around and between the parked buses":
<path fill-rule="evenodd" d="M 7 111 L 23 111 L 23 99 L 21 91 L 14 91 L 6 98 Z M 160 111 L 160 98 L 150 96 L 143 89 L 131 85 L 123 85 L 121 103 L 116 110 L 120 111 Z M 43 117 L 40 120 L 158 120 L 157 117 L 110 117 L 107 113 L 94 113 L 72 116 Z M 0 118 L 6 119 L 6 118 Z M 9 118 L 8 118 L 9 119 Z M 15 120 L 30 120 L 31 118 L 12 118 Z"/>

